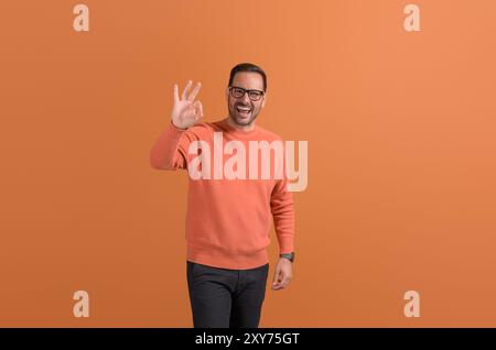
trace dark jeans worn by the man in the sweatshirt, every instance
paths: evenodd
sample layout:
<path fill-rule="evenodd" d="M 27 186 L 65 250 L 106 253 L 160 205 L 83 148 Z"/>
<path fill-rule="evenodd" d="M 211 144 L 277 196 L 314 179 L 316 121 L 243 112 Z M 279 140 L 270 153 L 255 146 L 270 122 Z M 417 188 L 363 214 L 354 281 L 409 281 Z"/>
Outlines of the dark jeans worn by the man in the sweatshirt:
<path fill-rule="evenodd" d="M 269 264 L 250 270 L 186 264 L 195 328 L 258 327 Z"/>

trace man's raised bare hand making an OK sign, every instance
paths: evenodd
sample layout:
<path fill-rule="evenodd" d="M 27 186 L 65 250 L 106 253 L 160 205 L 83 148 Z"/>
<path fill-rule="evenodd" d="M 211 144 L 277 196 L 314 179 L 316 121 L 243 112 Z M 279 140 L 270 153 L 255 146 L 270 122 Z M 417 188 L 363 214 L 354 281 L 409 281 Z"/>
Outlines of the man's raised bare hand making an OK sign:
<path fill-rule="evenodd" d="M 180 129 L 187 129 L 203 117 L 203 106 L 200 100 L 195 101 L 202 84 L 196 83 L 193 91 L 190 91 L 192 80 L 187 80 L 183 94 L 179 96 L 177 84 L 174 84 L 174 106 L 172 108 L 172 122 Z"/>

